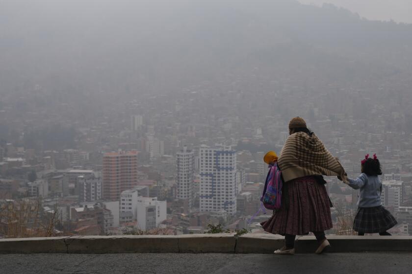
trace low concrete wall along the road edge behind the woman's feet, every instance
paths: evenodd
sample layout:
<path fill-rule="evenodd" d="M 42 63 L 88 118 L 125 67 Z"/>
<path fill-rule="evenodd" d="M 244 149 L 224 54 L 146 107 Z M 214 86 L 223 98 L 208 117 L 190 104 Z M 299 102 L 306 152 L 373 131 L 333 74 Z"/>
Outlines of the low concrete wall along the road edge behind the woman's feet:
<path fill-rule="evenodd" d="M 412 251 L 412 237 L 328 236 L 328 252 Z M 272 253 L 284 244 L 272 234 L 124 235 L 0 239 L 0 253 Z M 313 236 L 296 240 L 297 252 L 314 252 Z"/>

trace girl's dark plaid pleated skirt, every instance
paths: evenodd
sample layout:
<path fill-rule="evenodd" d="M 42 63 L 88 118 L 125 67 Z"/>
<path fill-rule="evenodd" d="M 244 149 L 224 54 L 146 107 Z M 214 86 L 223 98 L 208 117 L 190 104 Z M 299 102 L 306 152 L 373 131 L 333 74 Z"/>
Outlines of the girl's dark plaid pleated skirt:
<path fill-rule="evenodd" d="M 353 230 L 363 233 L 385 232 L 396 226 L 395 218 L 383 206 L 359 207 L 353 222 Z"/>

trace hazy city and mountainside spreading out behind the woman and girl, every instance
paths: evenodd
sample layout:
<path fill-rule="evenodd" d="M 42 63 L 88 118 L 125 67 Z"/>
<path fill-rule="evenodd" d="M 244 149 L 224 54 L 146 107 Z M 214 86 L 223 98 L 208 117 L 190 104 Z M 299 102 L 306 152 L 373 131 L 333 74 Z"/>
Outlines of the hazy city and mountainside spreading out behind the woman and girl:
<path fill-rule="evenodd" d="M 261 233 L 263 156 L 296 116 L 351 178 L 376 153 L 412 235 L 412 25 L 233 1 L 0 11 L 0 238 Z M 351 235 L 359 191 L 325 180 L 326 232 Z"/>

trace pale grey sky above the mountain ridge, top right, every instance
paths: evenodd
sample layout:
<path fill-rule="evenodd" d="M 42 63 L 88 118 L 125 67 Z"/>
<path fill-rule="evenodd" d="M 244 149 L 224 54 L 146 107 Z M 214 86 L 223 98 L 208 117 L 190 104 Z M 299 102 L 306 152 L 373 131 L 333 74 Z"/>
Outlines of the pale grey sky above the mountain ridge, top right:
<path fill-rule="evenodd" d="M 356 12 L 360 17 L 412 23 L 412 0 L 298 0 L 304 4 L 332 3 Z"/>

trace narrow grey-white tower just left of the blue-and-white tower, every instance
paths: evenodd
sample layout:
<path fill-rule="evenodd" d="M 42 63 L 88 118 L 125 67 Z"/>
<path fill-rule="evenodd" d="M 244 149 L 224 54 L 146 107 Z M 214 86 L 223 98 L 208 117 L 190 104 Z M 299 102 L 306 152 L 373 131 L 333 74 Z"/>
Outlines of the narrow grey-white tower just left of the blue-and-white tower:
<path fill-rule="evenodd" d="M 183 147 L 176 155 L 178 184 L 177 198 L 188 200 L 189 208 L 193 207 L 194 179 L 195 179 L 195 153 Z"/>

